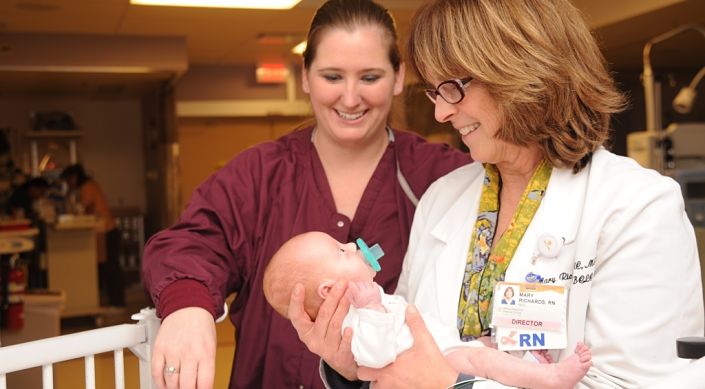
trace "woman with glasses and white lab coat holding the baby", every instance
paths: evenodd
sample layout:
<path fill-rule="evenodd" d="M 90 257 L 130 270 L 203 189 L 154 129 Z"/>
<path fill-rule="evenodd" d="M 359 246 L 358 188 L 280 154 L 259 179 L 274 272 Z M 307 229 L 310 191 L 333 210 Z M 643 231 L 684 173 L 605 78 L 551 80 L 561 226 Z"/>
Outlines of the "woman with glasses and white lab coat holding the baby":
<path fill-rule="evenodd" d="M 396 293 L 472 340 L 490 335 L 498 283 L 562 286 L 566 305 L 551 335 L 561 346 L 547 348 L 555 360 L 578 341 L 592 348 L 579 386 L 642 387 L 687 364 L 675 340 L 704 326 L 693 228 L 673 180 L 603 147 L 624 102 L 574 6 L 437 0 L 418 11 L 410 34 L 411 65 L 435 86 L 427 94 L 436 119 L 459 131 L 477 162 L 421 199 Z M 345 353 L 326 346 L 330 335 L 312 335 L 327 319 L 319 314 L 308 332 L 294 323 L 338 368 Z M 410 327 L 409 352 L 358 377 L 375 388 L 463 378 Z"/>

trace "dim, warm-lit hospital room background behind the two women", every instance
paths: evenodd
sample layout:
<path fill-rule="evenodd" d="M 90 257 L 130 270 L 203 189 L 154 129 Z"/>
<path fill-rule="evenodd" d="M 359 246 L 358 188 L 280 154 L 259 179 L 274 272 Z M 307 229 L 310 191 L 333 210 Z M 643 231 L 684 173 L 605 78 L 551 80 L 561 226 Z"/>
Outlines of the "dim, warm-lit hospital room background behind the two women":
<path fill-rule="evenodd" d="M 610 147 L 681 185 L 702 263 L 705 1 L 572 1 L 629 98 L 613 120 Z M 403 42 L 423 0 L 379 2 Z M 321 3 L 253 10 L 0 1 L 1 209 L 28 179 L 50 186 L 39 205 L 44 228 L 24 215 L 0 217 L 0 345 L 135 323 L 131 316 L 150 305 L 140 285 L 144 242 L 227 160 L 310 117 L 295 48 Z M 392 125 L 461 147 L 455 131 L 433 120 L 424 87 L 407 76 Z M 124 307 L 110 306 L 97 286 L 95 264 L 105 253 L 96 221 L 60 179 L 74 163 L 101 185 L 115 215 Z M 227 320 L 217 328 L 216 387 L 225 387 L 236 344 Z M 95 356 L 98 387 L 117 385 L 113 359 Z M 138 359 L 125 352 L 125 387 L 138 387 Z M 11 373 L 8 387 L 41 387 L 42 374 L 40 367 Z M 84 360 L 55 363 L 52 377 L 55 388 L 83 387 Z"/>

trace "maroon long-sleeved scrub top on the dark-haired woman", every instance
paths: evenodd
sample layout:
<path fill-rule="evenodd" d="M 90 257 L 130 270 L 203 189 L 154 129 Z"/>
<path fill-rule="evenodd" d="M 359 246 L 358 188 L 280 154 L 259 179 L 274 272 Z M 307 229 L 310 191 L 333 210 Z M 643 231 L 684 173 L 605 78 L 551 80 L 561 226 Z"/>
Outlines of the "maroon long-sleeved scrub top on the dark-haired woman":
<path fill-rule="evenodd" d="M 396 288 L 414 205 L 397 179 L 397 161 L 417 198 L 437 178 L 470 162 L 447 145 L 393 131 L 352 220 L 336 211 L 311 128 L 243 151 L 193 193 L 171 228 L 144 253 L 144 280 L 160 317 L 198 306 L 215 317 L 232 292 L 236 348 L 230 388 L 323 388 L 319 357 L 262 292 L 264 269 L 289 238 L 323 231 L 340 242 L 362 238 L 385 255 L 377 281 Z"/>

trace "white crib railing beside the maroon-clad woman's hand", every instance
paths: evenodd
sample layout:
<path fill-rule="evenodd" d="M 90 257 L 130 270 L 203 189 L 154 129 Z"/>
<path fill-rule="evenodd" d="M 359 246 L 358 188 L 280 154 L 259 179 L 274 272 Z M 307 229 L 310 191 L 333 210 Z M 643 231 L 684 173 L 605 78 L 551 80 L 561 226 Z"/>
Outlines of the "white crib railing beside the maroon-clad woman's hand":
<path fill-rule="evenodd" d="M 42 367 L 42 387 L 54 386 L 54 363 L 84 358 L 87 389 L 95 388 L 95 354 L 113 352 L 115 388 L 124 389 L 125 369 L 123 349 L 128 348 L 139 359 L 140 388 L 155 388 L 152 384 L 150 359 L 152 344 L 159 330 L 154 309 L 145 308 L 132 315 L 135 324 L 120 324 L 75 334 L 0 347 L 0 389 L 6 389 L 6 375 L 18 370 Z"/>

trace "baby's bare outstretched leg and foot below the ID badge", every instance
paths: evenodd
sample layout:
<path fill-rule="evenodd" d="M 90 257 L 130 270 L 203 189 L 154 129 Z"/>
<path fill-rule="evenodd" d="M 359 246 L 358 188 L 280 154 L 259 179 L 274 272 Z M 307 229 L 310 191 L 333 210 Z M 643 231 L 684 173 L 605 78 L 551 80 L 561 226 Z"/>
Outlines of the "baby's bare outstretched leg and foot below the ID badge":
<path fill-rule="evenodd" d="M 464 348 L 446 355 L 459 372 L 490 378 L 509 386 L 533 389 L 574 387 L 590 368 L 592 353 L 583 343 L 575 354 L 555 364 L 537 364 L 491 348 Z"/>

